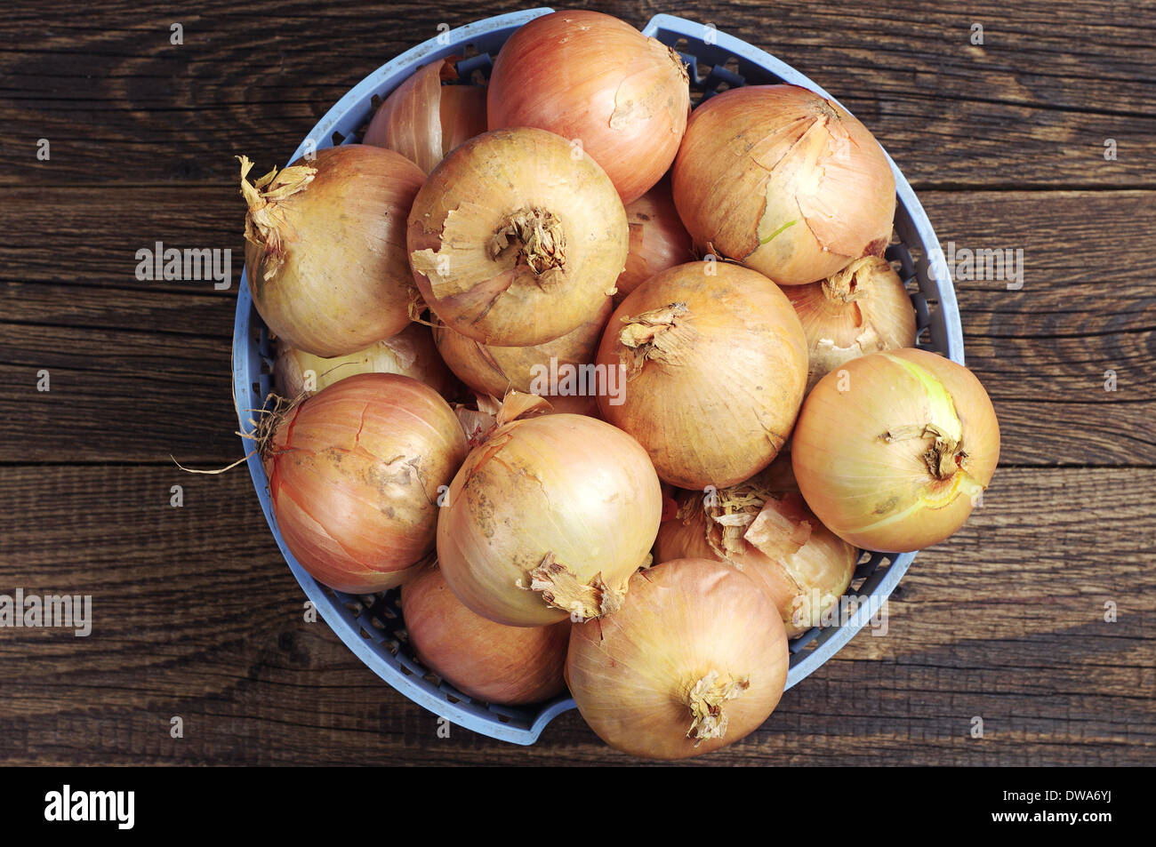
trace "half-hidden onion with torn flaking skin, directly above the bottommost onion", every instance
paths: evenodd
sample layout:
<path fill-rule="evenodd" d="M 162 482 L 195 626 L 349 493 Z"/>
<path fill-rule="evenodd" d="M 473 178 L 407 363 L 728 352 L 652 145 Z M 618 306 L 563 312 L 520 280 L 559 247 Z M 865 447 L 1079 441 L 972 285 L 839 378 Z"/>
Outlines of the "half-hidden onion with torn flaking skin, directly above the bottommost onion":
<path fill-rule="evenodd" d="M 787 638 L 795 638 L 839 602 L 859 551 L 824 527 L 798 493 L 772 492 L 762 476 L 705 495 L 682 492 L 676 517 L 659 527 L 654 560 L 734 565 L 766 592 Z"/>

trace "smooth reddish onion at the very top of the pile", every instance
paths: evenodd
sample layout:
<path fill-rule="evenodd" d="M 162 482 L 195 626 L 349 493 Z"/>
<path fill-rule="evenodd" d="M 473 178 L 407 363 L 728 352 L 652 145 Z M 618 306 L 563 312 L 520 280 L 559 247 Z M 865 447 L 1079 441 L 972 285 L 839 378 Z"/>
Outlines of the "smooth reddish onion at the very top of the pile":
<path fill-rule="evenodd" d="M 598 12 L 555 12 L 518 29 L 490 75 L 490 129 L 535 126 L 573 139 L 629 203 L 662 177 L 687 129 L 682 57 Z"/>

